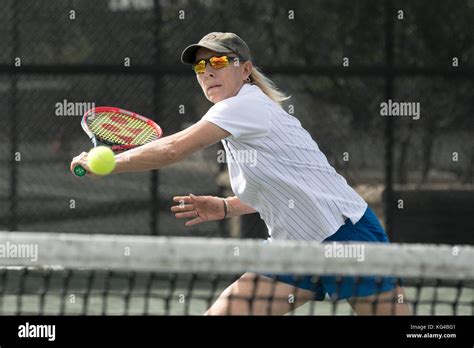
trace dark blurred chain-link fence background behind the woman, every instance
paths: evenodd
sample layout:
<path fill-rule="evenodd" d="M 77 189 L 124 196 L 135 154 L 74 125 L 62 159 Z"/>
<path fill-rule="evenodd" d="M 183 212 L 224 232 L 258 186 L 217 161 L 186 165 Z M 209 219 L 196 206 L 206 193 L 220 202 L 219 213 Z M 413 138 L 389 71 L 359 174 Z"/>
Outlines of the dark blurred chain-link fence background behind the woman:
<path fill-rule="evenodd" d="M 211 104 L 180 53 L 231 31 L 393 241 L 474 244 L 472 23 L 469 0 L 3 0 L 0 229 L 265 238 L 258 214 L 185 228 L 169 212 L 174 195 L 232 195 L 220 144 L 80 180 L 82 114 L 57 112 L 116 106 L 182 130 Z M 420 118 L 382 117 L 388 99 L 420 103 Z"/>

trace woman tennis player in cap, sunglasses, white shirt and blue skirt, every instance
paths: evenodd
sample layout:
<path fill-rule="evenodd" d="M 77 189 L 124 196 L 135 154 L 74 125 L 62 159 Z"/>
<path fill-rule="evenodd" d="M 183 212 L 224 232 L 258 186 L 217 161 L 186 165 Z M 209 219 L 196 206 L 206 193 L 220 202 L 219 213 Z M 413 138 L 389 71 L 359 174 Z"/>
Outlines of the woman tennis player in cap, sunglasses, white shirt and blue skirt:
<path fill-rule="evenodd" d="M 336 173 L 298 119 L 283 110 L 285 95 L 252 65 L 249 48 L 240 37 L 210 33 L 186 47 L 181 60 L 192 65 L 205 97 L 214 105 L 191 127 L 117 155 L 114 173 L 159 169 L 222 141 L 235 196 L 174 197 L 177 204 L 171 211 L 177 218 L 190 219 L 187 226 L 258 212 L 270 241 L 388 243 L 367 203 Z M 249 158 L 242 153 L 252 154 L 256 161 L 239 160 Z M 77 164 L 88 169 L 87 153 L 73 159 L 71 170 Z M 410 314 L 403 289 L 393 278 L 364 277 L 357 284 L 351 278 L 339 284 L 329 276 L 319 282 L 310 276 L 277 279 L 245 273 L 206 314 L 285 314 L 326 295 L 346 299 L 361 315 Z M 290 295 L 295 303 L 269 299 Z M 249 306 L 251 296 L 261 299 Z"/>

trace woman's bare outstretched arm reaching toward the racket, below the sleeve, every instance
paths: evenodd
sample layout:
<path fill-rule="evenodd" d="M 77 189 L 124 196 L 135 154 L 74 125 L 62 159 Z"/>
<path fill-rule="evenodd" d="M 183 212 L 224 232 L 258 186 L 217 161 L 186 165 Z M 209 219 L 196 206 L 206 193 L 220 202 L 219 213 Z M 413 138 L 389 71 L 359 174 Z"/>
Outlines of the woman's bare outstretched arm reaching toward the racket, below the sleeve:
<path fill-rule="evenodd" d="M 159 169 L 179 162 L 229 135 L 229 132 L 211 122 L 199 121 L 181 132 L 116 155 L 113 173 Z"/>

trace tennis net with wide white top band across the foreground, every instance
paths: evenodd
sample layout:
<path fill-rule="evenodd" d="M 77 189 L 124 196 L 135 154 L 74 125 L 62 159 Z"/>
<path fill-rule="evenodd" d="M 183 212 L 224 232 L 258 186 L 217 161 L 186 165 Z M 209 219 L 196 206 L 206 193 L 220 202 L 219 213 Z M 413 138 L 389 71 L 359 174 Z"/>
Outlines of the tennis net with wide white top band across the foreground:
<path fill-rule="evenodd" d="M 240 279 L 220 313 L 473 315 L 473 264 L 472 246 L 0 232 L 0 314 L 201 315 Z M 303 283 L 334 288 L 314 301 Z"/>

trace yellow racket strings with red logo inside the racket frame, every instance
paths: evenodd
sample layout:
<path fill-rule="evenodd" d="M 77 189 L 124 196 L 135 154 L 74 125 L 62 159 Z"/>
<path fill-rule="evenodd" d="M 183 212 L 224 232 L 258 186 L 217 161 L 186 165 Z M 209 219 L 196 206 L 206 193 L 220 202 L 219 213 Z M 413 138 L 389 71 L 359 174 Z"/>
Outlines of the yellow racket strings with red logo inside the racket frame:
<path fill-rule="evenodd" d="M 103 142 L 138 146 L 158 139 L 151 125 L 128 115 L 104 112 L 87 121 L 89 129 Z"/>

